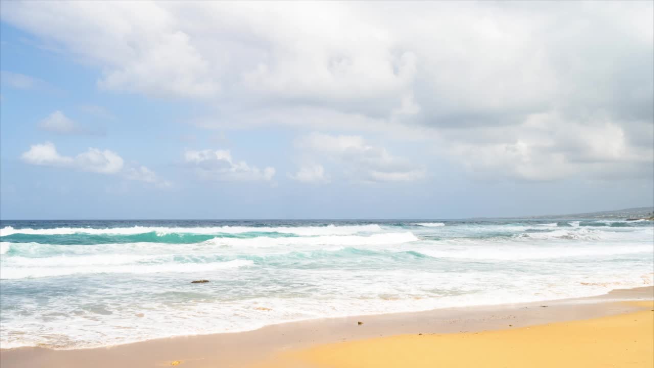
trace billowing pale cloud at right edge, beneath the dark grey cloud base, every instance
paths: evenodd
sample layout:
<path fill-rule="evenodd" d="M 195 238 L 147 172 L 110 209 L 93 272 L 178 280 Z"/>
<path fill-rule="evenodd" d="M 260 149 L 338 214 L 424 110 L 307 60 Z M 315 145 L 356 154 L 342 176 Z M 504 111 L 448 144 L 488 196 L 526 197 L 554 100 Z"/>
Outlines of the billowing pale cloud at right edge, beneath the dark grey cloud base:
<path fill-rule="evenodd" d="M 654 126 L 647 122 L 640 124 L 640 134 L 630 137 L 622 124 L 606 116 L 568 120 L 547 113 L 531 115 L 501 132 L 490 128 L 485 132 L 475 141 L 461 136 L 465 132 L 445 132 L 441 149 L 479 178 L 542 181 L 654 175 Z"/>

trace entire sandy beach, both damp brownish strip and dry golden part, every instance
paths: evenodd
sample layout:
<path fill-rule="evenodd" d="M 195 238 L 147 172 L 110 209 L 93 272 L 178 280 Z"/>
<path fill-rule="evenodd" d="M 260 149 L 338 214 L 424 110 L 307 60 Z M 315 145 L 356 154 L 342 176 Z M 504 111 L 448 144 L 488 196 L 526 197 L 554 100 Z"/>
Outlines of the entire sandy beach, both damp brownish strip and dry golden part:
<path fill-rule="evenodd" d="M 528 361 L 534 367 L 550 367 L 565 361 L 570 367 L 651 367 L 653 299 L 654 287 L 639 287 L 597 297 L 328 318 L 107 348 L 15 348 L 1 350 L 0 364 L 26 368 L 90 364 L 95 368 L 432 367 L 438 363 L 524 367 Z M 557 354 L 549 354 L 552 351 Z"/>

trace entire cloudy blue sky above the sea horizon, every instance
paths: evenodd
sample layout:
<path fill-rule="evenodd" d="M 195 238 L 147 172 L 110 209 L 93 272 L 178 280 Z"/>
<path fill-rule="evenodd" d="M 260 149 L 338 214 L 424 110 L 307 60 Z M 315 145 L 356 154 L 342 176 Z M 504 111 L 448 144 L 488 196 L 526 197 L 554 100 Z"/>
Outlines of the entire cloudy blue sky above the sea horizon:
<path fill-rule="evenodd" d="M 654 205 L 654 2 L 0 2 L 2 219 Z"/>

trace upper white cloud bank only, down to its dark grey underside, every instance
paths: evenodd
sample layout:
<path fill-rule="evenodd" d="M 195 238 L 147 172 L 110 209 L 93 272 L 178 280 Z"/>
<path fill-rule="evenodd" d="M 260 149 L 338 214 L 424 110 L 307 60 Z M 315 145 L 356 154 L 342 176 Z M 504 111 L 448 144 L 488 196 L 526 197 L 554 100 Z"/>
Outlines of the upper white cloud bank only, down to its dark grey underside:
<path fill-rule="evenodd" d="M 649 3 L 25 1 L 3 9 L 5 21 L 101 65 L 105 88 L 262 94 L 386 115 L 420 106 L 441 118 L 606 99 L 615 85 L 598 87 L 596 77 L 619 81 L 611 72 L 624 70 L 611 56 L 625 47 L 647 56 L 654 39 Z M 583 14 L 585 26 L 562 14 Z"/>

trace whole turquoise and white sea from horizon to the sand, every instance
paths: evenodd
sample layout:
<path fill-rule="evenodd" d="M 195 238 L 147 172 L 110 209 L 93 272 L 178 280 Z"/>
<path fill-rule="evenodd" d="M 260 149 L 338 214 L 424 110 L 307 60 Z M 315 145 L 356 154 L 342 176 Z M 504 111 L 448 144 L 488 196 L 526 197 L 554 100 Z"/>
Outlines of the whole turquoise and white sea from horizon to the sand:
<path fill-rule="evenodd" d="M 0 346 L 585 297 L 653 270 L 652 221 L 1 221 Z"/>

